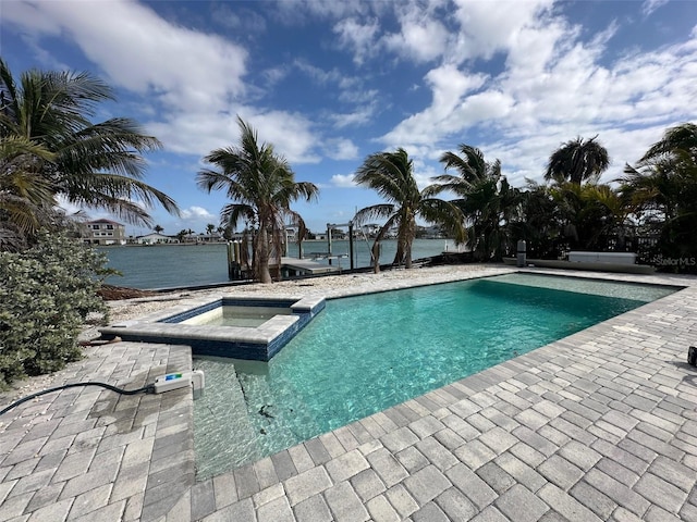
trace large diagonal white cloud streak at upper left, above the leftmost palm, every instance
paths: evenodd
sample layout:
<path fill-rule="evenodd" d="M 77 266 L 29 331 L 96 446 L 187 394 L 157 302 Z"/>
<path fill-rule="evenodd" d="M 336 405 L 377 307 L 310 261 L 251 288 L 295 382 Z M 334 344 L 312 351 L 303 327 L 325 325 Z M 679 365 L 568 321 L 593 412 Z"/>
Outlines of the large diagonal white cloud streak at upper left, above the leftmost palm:
<path fill-rule="evenodd" d="M 219 36 L 173 25 L 130 1 L 36 5 L 114 85 L 171 108 L 216 107 L 244 91 L 247 52 Z"/>

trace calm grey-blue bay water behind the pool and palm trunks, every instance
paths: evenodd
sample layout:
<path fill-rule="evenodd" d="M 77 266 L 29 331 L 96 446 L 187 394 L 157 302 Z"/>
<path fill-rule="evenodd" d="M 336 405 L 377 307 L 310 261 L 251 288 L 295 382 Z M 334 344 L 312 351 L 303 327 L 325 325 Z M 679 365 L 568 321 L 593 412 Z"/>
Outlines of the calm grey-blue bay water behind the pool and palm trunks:
<path fill-rule="evenodd" d="M 371 244 L 370 244 L 371 245 Z M 381 263 L 394 259 L 396 241 L 386 240 L 380 254 Z M 416 239 L 413 259 L 438 256 L 444 249 L 455 251 L 452 241 L 444 239 Z M 123 277 L 109 277 L 107 283 L 132 288 L 171 288 L 196 286 L 228 281 L 228 252 L 225 245 L 179 246 L 158 245 L 152 247 L 99 247 L 109 259 L 108 265 L 123 273 Z M 303 243 L 305 258 L 311 252 L 326 252 L 326 241 Z M 366 241 L 355 241 L 355 266 L 370 266 L 370 250 Z M 348 254 L 348 241 L 332 241 L 332 253 Z M 289 254 L 297 257 L 297 246 L 291 245 Z M 327 264 L 328 261 L 318 261 Z M 334 266 L 350 268 L 347 258 L 334 259 Z"/>

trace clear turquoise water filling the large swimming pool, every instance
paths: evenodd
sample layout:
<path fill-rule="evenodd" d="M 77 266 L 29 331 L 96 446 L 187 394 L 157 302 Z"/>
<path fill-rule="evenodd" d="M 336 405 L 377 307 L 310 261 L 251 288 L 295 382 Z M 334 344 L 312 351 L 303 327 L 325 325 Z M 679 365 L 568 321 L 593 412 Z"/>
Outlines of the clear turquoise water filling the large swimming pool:
<path fill-rule="evenodd" d="M 573 290 L 573 291 L 572 291 Z M 528 274 L 330 300 L 269 363 L 196 358 L 197 476 L 254 462 L 675 291 Z"/>

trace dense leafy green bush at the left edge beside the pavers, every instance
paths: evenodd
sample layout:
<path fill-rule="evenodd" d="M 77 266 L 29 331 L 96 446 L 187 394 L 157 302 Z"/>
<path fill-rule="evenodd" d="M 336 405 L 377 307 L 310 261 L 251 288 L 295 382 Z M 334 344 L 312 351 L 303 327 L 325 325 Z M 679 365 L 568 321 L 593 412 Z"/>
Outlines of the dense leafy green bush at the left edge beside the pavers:
<path fill-rule="evenodd" d="M 0 386 L 78 360 L 81 326 L 107 319 L 97 296 L 106 258 L 64 235 L 41 233 L 23 252 L 0 252 Z"/>

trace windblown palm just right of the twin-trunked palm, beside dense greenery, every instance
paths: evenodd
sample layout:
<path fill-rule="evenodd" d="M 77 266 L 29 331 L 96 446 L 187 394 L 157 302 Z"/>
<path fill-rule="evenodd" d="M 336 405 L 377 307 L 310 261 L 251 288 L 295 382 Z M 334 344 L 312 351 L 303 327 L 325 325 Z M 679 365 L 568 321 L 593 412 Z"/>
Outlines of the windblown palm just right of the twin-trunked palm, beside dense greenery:
<path fill-rule="evenodd" d="M 436 176 L 433 181 L 440 184 L 440 191 L 460 197 L 454 202 L 467 220 L 469 248 L 481 260 L 500 260 L 514 239 L 510 237 L 509 224 L 519 213 L 519 190 L 511 187 L 501 174 L 501 162 L 487 162 L 476 147 L 462 144 L 458 153 L 444 152 L 440 162 L 445 171 L 457 172 Z"/>

